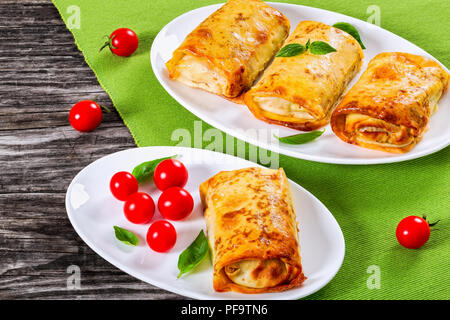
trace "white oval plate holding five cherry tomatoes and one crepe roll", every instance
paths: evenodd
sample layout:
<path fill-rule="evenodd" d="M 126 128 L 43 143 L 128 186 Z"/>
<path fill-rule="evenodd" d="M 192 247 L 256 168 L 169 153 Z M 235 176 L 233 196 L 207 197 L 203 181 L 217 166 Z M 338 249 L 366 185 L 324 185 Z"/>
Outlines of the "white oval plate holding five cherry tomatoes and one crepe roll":
<path fill-rule="evenodd" d="M 192 214 L 183 221 L 172 222 L 178 233 L 175 247 L 168 253 L 152 251 L 145 241 L 147 225 L 128 222 L 123 202 L 113 198 L 109 181 L 118 171 L 129 171 L 141 162 L 178 154 L 189 172 L 186 189 L 194 198 Z M 333 215 L 311 193 L 290 181 L 300 228 L 301 258 L 308 279 L 303 286 L 281 293 L 246 295 L 218 293 L 212 286 L 209 259 L 195 272 L 177 279 L 178 256 L 195 239 L 200 229 L 206 231 L 198 187 L 201 182 L 221 170 L 258 166 L 253 162 L 208 150 L 181 147 L 146 147 L 129 149 L 103 157 L 86 168 L 71 182 L 66 194 L 66 210 L 78 235 L 102 258 L 128 274 L 162 289 L 196 299 L 297 299 L 316 292 L 339 270 L 344 259 L 342 231 Z M 140 187 L 155 204 L 160 192 L 153 183 Z M 162 219 L 158 211 L 153 221 Z M 116 240 L 117 225 L 138 235 L 140 243 L 130 247 Z"/>

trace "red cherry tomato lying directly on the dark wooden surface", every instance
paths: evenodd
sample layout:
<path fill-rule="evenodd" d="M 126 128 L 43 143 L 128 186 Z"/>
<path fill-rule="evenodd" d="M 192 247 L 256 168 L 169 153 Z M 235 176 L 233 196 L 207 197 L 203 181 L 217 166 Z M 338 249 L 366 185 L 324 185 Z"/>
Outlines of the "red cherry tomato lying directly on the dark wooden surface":
<path fill-rule="evenodd" d="M 102 121 L 102 109 L 91 100 L 76 103 L 69 112 L 69 122 L 75 130 L 92 131 Z"/>

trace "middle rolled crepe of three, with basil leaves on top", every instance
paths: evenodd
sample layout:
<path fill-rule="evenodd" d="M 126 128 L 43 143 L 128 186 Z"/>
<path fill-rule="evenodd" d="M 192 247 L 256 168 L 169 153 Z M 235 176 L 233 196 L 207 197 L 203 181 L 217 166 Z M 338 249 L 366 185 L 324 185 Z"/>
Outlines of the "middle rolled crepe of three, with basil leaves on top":
<path fill-rule="evenodd" d="M 305 131 L 330 121 L 332 108 L 361 67 L 363 52 L 346 32 L 315 21 L 300 22 L 285 45 L 308 40 L 327 42 L 337 51 L 276 57 L 244 96 L 258 119 Z"/>

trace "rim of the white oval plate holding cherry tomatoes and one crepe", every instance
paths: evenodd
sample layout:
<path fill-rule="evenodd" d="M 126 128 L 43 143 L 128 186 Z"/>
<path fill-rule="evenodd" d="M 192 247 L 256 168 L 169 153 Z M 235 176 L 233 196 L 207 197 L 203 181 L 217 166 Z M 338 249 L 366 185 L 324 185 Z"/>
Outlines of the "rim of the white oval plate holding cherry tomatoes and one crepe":
<path fill-rule="evenodd" d="M 82 227 L 80 227 L 78 225 L 78 223 L 76 222 L 76 219 L 74 219 L 73 214 L 74 212 L 72 212 L 73 210 L 69 207 L 70 206 L 70 199 L 69 196 L 71 194 L 71 190 L 73 188 L 73 186 L 75 185 L 75 181 L 77 180 L 77 178 L 79 178 L 84 171 L 88 170 L 89 167 L 94 166 L 95 164 L 97 164 L 98 162 L 102 162 L 102 161 L 106 161 L 107 158 L 112 157 L 113 155 L 117 155 L 119 153 L 127 153 L 127 152 L 138 152 L 137 150 L 142 150 L 142 152 L 145 152 L 144 150 L 149 150 L 149 149 L 164 149 L 167 150 L 167 154 L 170 154 L 170 151 L 172 150 L 180 150 L 180 155 L 183 154 L 183 152 L 203 152 L 203 153 L 213 153 L 213 154 L 217 154 L 218 157 L 230 157 L 230 158 L 238 158 L 244 162 L 248 162 L 249 164 L 256 166 L 256 167 L 263 167 L 260 164 L 257 163 L 253 163 L 250 160 L 247 159 L 242 159 L 239 157 L 235 157 L 233 155 L 229 155 L 229 154 L 223 154 L 220 152 L 215 152 L 215 151 L 211 151 L 211 150 L 205 150 L 205 149 L 198 149 L 198 148 L 188 148 L 188 147 L 178 147 L 178 146 L 149 146 L 149 147 L 135 147 L 135 148 L 129 148 L 129 149 L 125 149 L 125 150 L 121 150 L 121 151 L 117 151 L 117 152 L 113 152 L 110 153 L 108 155 L 105 155 L 99 159 L 94 160 L 93 162 L 91 162 L 90 164 L 88 164 L 87 166 L 83 167 L 83 169 L 81 169 L 72 179 L 72 181 L 70 182 L 69 186 L 67 187 L 67 191 L 66 191 L 66 196 L 65 196 L 65 208 L 66 208 L 66 213 L 67 213 L 67 217 L 69 218 L 69 221 L 72 225 L 72 227 L 74 228 L 75 232 L 77 233 L 77 235 L 84 241 L 84 243 L 86 243 L 88 245 L 88 247 L 94 251 L 96 254 L 98 254 L 100 257 L 102 257 L 104 260 L 106 260 L 108 263 L 112 264 L 114 267 L 122 270 L 123 272 L 127 273 L 128 275 L 143 281 L 145 283 L 148 283 L 150 285 L 159 287 L 163 290 L 169 291 L 169 292 L 173 292 L 176 294 L 179 294 L 183 297 L 189 297 L 189 298 L 194 298 L 194 299 L 199 299 L 199 300 L 236 300 L 239 298 L 235 298 L 235 297 L 217 297 L 217 296 L 208 296 L 208 295 L 203 295 L 203 294 L 198 294 L 196 292 L 189 292 L 189 294 L 186 294 L 186 292 L 183 289 L 178 289 L 178 288 L 172 288 L 170 285 L 166 285 L 163 282 L 160 282 L 158 280 L 154 280 L 151 279 L 151 282 L 144 279 L 144 277 L 139 275 L 139 272 L 134 272 L 133 268 L 129 268 L 128 266 L 126 266 L 125 264 L 123 264 L 121 261 L 111 257 L 107 252 L 105 252 L 102 248 L 96 246 L 89 238 L 89 236 L 87 236 L 83 231 L 82 231 Z M 183 150 L 183 151 L 182 151 Z M 141 152 L 141 151 L 139 151 Z M 336 269 L 332 272 L 329 273 L 327 277 L 324 277 L 321 282 L 319 282 L 318 285 L 316 285 L 316 287 L 313 287 L 312 290 L 306 291 L 304 294 L 302 295 L 298 295 L 298 296 L 288 296 L 287 298 L 285 298 L 284 296 L 288 295 L 286 294 L 286 292 L 289 293 L 288 291 L 284 291 L 281 292 L 279 297 L 276 298 L 261 298 L 260 300 L 267 300 L 267 299 L 271 299 L 271 300 L 294 300 L 294 299 L 301 299 L 304 297 L 307 297 L 317 291 L 319 291 L 320 289 L 322 289 L 323 287 L 325 287 L 328 283 L 331 282 L 331 280 L 334 279 L 334 277 L 336 276 L 336 274 L 339 272 L 339 270 L 342 268 L 342 264 L 345 258 L 345 253 L 346 253 L 346 244 L 345 244 L 345 238 L 344 238 L 344 233 L 342 231 L 341 226 L 339 225 L 339 223 L 337 222 L 336 218 L 334 217 L 333 213 L 316 197 L 314 196 L 311 192 L 309 192 L 308 190 L 306 190 L 305 188 L 303 188 L 301 185 L 299 185 L 298 183 L 296 183 L 295 181 L 289 179 L 289 182 L 291 184 L 294 184 L 299 190 L 301 190 L 302 192 L 305 192 L 306 195 L 310 198 L 312 198 L 314 200 L 314 202 L 316 204 L 318 204 L 322 210 L 325 210 L 325 212 L 329 215 L 329 218 L 332 222 L 332 224 L 334 224 L 337 229 L 337 239 L 336 241 L 338 241 L 340 243 L 339 247 L 342 247 L 341 252 L 338 252 L 338 256 L 337 256 L 337 260 L 333 265 L 336 265 Z M 292 187 L 292 186 L 291 186 Z M 72 212 L 72 213 L 71 213 Z M 263 294 L 262 294 L 263 295 Z M 251 300 L 252 297 L 254 297 L 253 295 L 245 295 L 243 294 L 242 298 L 239 300 Z M 254 299 L 254 298 L 253 298 Z"/>

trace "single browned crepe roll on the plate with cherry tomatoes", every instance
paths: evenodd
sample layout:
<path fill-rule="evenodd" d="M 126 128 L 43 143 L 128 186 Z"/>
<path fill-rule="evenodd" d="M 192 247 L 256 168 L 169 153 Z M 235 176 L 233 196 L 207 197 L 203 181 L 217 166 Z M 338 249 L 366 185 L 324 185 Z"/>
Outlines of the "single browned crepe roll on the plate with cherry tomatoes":
<path fill-rule="evenodd" d="M 298 287 L 298 229 L 283 169 L 223 171 L 200 185 L 216 291 L 278 292 Z"/>

